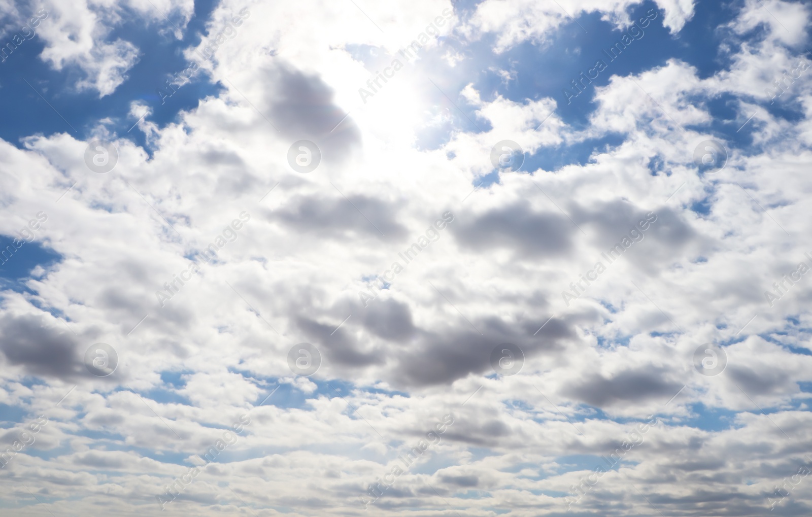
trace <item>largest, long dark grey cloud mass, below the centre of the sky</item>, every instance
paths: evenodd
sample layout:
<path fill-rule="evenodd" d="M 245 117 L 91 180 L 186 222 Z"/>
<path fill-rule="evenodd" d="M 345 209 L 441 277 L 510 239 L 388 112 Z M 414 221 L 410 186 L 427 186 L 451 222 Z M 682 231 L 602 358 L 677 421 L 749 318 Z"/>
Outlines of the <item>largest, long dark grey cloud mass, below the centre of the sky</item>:
<path fill-rule="evenodd" d="M 438 287 L 455 303 L 458 295 L 453 290 L 442 284 Z M 440 295 L 435 303 L 448 304 Z M 351 319 L 336 330 L 347 315 L 352 315 Z M 388 364 L 378 375 L 399 388 L 450 385 L 471 373 L 495 373 L 490 355 L 501 343 L 520 347 L 527 360 L 543 353 L 559 353 L 564 340 L 575 338 L 568 321 L 559 318 L 547 321 L 542 330 L 539 326 L 543 320 L 508 325 L 498 317 L 473 321 L 482 334 L 462 317 L 443 330 L 425 330 L 412 321 L 410 305 L 395 299 L 374 299 L 367 307 L 356 299 L 343 299 L 326 317 L 330 324 L 303 314 L 292 318 L 303 340 L 318 347 L 330 364 L 349 368 L 344 372 L 348 377 L 354 368 Z M 372 346 L 359 341 L 359 327 L 380 339 L 373 340 Z M 366 343 L 365 347 L 361 343 Z"/>

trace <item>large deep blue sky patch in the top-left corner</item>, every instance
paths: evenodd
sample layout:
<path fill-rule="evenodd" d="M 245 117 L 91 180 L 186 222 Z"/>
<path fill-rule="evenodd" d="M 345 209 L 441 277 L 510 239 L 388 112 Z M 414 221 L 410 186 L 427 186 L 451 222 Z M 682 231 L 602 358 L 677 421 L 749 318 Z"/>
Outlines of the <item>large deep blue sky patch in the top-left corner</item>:
<path fill-rule="evenodd" d="M 69 65 L 62 71 L 55 71 L 50 64 L 41 61 L 38 56 L 44 44 L 39 37 L 26 41 L 6 62 L 0 63 L 3 93 L 0 96 L 0 117 L 14 121 L 0 125 L 0 138 L 20 145 L 20 136 L 67 132 L 84 140 L 98 120 L 110 118 L 111 131 L 128 136 L 146 148 L 145 137 L 140 131 L 127 132 L 136 123 L 136 119 L 129 115 L 131 101 L 148 105 L 153 110 L 149 120 L 163 127 L 173 122 L 181 110 L 191 110 L 201 98 L 219 91 L 204 73 L 198 72 L 190 83 L 176 88 L 176 93 L 163 104 L 158 94 L 159 88 L 166 90 L 167 79 L 191 64 L 184 58 L 182 50 L 201 41 L 205 22 L 216 4 L 215 0 L 195 2 L 195 14 L 182 41 L 175 39 L 175 29 L 165 19 L 146 25 L 140 15 L 123 16 L 123 24 L 114 28 L 106 41 L 120 38 L 132 42 L 138 48 L 138 62 L 127 71 L 123 84 L 101 99 L 96 90 L 77 91 L 75 84 L 84 74 L 77 67 Z M 42 24 L 49 22 L 50 19 L 42 20 Z"/>

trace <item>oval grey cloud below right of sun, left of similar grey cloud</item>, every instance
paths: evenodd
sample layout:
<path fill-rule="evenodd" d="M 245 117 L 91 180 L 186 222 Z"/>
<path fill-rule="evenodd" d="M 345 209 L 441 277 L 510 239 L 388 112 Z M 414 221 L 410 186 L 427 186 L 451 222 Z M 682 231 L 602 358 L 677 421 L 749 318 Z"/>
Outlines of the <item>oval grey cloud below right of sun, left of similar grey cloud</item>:
<path fill-rule="evenodd" d="M 449 228 L 464 248 L 507 248 L 525 257 L 564 255 L 578 231 L 564 215 L 538 212 L 526 200 L 482 214 L 459 213 Z"/>

